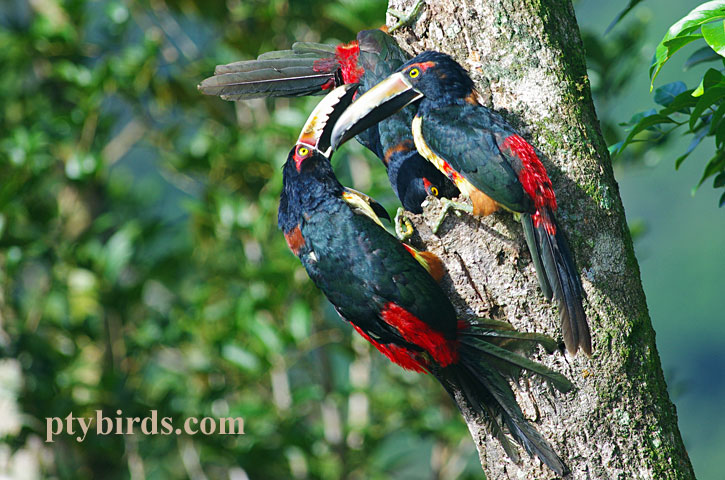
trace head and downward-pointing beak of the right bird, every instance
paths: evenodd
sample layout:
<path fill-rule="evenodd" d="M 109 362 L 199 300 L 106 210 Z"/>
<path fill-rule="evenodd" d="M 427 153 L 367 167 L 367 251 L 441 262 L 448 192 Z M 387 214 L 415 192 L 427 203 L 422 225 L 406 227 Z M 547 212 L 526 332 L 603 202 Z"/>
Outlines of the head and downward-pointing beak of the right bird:
<path fill-rule="evenodd" d="M 454 102 L 474 92 L 468 72 L 449 55 L 426 51 L 361 95 L 340 116 L 331 142 L 339 145 L 417 101 Z"/>

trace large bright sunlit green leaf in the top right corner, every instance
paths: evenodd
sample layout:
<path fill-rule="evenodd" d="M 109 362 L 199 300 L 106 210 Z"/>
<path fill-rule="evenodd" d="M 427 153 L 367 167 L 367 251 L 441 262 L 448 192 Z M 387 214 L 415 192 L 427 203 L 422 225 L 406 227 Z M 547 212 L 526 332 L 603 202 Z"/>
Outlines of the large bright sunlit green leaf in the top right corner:
<path fill-rule="evenodd" d="M 650 67 L 650 90 L 654 87 L 654 80 L 662 66 L 672 54 L 699 37 L 691 35 L 694 31 L 706 23 L 722 19 L 725 19 L 725 0 L 715 0 L 700 5 L 672 25 L 655 49 L 655 60 Z"/>

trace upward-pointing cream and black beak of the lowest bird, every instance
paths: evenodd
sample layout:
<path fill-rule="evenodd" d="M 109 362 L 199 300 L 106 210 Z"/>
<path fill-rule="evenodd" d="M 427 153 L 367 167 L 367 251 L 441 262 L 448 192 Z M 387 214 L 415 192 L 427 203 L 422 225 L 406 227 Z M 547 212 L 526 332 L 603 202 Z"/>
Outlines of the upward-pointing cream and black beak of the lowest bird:
<path fill-rule="evenodd" d="M 328 93 L 310 113 L 297 144 L 304 144 L 329 158 L 332 153 L 332 127 L 352 103 L 358 87 L 357 83 L 341 85 Z"/>

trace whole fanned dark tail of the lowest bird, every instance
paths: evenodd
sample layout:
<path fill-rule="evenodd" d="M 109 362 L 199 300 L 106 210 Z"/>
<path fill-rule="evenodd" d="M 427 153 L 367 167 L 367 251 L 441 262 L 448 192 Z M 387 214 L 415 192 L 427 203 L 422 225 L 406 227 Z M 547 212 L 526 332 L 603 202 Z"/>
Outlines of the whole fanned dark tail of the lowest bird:
<path fill-rule="evenodd" d="M 568 467 L 551 445 L 524 418 L 506 380 L 507 377 L 515 379 L 526 370 L 546 379 L 562 392 L 569 391 L 572 384 L 566 377 L 510 350 L 512 345 L 544 341 L 549 344 L 551 340 L 474 324 L 459 331 L 459 341 L 458 363 L 432 371 L 446 391 L 457 403 L 462 397 L 471 409 L 483 416 L 491 433 L 514 462 L 519 460 L 518 453 L 506 436 L 504 425 L 529 455 L 539 457 L 558 475 L 568 473 Z"/>

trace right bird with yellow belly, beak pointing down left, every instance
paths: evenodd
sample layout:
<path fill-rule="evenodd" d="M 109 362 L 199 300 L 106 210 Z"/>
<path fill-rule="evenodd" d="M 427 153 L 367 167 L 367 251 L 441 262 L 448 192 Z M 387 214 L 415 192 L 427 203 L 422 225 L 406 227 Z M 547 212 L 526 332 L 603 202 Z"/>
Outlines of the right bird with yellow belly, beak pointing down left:
<path fill-rule="evenodd" d="M 546 169 L 503 117 L 481 105 L 455 60 L 427 51 L 408 61 L 343 113 L 332 142 L 344 142 L 411 103 L 417 107 L 411 126 L 418 153 L 473 204 L 457 208 L 482 216 L 504 209 L 520 218 L 541 289 L 558 301 L 567 350 L 591 354 L 581 280 L 554 218 L 556 196 Z"/>

